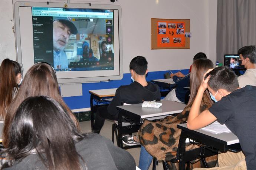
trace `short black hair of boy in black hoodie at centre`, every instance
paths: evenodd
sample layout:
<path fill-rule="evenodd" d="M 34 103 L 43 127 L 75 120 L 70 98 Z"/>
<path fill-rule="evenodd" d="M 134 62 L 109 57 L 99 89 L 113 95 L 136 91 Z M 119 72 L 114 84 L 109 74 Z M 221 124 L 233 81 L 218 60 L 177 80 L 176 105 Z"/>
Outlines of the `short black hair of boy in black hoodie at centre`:
<path fill-rule="evenodd" d="M 139 75 L 144 75 L 148 69 L 148 61 L 142 56 L 134 57 L 130 63 L 131 69 Z"/>

